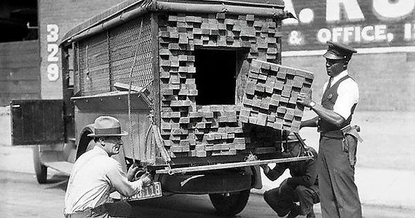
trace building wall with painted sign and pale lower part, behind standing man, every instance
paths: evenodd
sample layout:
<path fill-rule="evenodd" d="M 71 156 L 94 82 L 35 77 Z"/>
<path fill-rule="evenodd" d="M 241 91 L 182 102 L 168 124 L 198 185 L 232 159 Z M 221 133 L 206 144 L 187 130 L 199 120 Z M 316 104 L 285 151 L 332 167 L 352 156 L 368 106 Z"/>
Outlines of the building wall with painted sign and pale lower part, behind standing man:
<path fill-rule="evenodd" d="M 414 111 L 415 1 L 284 0 L 298 19 L 282 25 L 282 64 L 315 73 L 314 100 L 328 80 L 326 41 L 358 50 L 349 64 L 357 80 L 357 110 Z"/>

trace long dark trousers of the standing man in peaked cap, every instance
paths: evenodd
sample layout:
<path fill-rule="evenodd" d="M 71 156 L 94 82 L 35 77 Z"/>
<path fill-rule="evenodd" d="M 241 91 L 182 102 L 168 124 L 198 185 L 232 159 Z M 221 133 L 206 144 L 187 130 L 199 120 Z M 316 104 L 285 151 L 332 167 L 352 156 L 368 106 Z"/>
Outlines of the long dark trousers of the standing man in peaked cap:
<path fill-rule="evenodd" d="M 322 217 L 362 217 L 355 172 L 343 152 L 342 138 L 320 137 L 317 172 Z"/>

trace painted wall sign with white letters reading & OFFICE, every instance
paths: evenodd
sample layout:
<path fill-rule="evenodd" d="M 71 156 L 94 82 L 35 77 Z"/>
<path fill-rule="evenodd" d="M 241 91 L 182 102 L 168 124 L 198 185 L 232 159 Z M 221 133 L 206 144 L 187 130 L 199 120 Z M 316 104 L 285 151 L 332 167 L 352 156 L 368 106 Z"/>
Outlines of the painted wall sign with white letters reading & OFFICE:
<path fill-rule="evenodd" d="M 414 0 L 284 0 L 283 51 L 326 48 L 326 41 L 355 48 L 415 46 Z"/>

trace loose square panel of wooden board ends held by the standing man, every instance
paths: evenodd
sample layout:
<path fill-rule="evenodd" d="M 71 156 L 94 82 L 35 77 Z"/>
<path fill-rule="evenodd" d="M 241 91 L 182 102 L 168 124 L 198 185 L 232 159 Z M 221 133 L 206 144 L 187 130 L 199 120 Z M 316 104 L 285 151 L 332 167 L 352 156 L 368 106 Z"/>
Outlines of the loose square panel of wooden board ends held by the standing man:
<path fill-rule="evenodd" d="M 304 107 L 299 93 L 309 93 L 313 73 L 252 60 L 239 119 L 274 129 L 298 132 Z"/>

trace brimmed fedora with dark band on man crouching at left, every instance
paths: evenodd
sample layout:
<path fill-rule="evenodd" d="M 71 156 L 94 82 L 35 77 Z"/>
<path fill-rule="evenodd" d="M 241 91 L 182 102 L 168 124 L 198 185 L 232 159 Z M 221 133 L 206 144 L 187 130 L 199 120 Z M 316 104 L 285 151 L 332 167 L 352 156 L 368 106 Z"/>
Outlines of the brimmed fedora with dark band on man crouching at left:
<path fill-rule="evenodd" d="M 100 116 L 93 122 L 93 134 L 90 137 L 99 136 L 127 136 L 127 131 L 121 130 L 120 121 L 112 116 Z"/>

